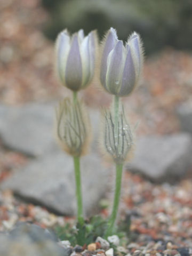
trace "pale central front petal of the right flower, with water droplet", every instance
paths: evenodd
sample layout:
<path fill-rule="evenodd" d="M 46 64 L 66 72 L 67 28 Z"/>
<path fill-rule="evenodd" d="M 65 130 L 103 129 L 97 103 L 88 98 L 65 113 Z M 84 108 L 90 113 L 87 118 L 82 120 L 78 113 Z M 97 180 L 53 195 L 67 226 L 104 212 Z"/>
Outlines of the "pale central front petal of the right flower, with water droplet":
<path fill-rule="evenodd" d="M 106 89 L 112 94 L 117 94 L 121 87 L 124 63 L 125 49 L 123 42 L 118 41 L 107 58 Z"/>

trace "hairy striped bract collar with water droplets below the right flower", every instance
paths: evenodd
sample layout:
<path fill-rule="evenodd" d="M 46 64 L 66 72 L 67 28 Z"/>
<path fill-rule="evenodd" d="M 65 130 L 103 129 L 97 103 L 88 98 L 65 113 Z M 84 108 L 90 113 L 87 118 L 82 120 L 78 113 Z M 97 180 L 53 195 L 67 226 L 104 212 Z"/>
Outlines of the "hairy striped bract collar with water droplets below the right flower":
<path fill-rule="evenodd" d="M 127 122 L 122 106 L 118 115 L 117 132 L 115 117 L 109 110 L 103 111 L 102 141 L 104 150 L 118 164 L 123 163 L 132 153 L 133 133 Z"/>

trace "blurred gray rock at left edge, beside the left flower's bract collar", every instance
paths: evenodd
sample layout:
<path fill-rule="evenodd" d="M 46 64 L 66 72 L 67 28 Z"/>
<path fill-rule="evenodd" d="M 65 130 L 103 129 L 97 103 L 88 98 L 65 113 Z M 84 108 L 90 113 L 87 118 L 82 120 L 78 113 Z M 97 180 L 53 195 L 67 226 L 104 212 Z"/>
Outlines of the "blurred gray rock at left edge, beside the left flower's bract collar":
<path fill-rule="evenodd" d="M 0 137 L 6 147 L 30 156 L 58 149 L 53 132 L 53 103 L 1 105 L 0 120 Z"/>

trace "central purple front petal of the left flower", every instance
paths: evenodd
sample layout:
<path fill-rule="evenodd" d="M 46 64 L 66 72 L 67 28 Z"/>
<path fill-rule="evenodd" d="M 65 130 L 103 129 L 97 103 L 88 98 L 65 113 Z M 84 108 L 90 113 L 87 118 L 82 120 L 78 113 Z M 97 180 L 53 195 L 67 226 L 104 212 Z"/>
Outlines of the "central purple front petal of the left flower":
<path fill-rule="evenodd" d="M 82 84 L 82 60 L 77 34 L 72 38 L 66 65 L 65 81 L 66 86 L 73 91 L 79 90 Z"/>

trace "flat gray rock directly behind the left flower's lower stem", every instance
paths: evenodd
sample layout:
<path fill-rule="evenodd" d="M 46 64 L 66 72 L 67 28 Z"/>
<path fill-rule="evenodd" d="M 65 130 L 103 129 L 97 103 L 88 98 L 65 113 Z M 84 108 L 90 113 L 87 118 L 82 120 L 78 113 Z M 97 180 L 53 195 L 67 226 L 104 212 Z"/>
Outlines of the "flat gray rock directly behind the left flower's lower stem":
<path fill-rule="evenodd" d="M 97 203 L 106 191 L 109 170 L 93 154 L 82 157 L 81 170 L 84 209 L 90 214 L 97 210 Z M 73 158 L 60 151 L 31 161 L 1 187 L 12 189 L 28 202 L 44 205 L 57 213 L 73 215 L 76 212 Z"/>

